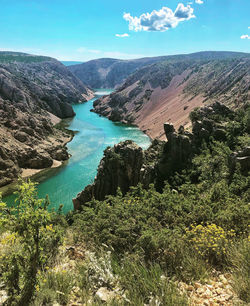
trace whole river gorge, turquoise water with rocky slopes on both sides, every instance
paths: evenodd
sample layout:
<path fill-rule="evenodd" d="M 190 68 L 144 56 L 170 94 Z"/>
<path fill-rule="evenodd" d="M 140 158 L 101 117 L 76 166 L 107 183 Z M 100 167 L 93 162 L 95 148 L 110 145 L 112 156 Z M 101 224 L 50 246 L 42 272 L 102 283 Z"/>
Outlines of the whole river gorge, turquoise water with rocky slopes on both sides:
<path fill-rule="evenodd" d="M 11 62 L 9 58 L 15 58 L 15 61 Z M 103 69 L 106 69 L 105 73 Z M 76 76 L 71 74 L 69 70 L 76 73 Z M 17 74 L 18 71 L 22 71 L 26 79 L 24 77 L 20 79 Z M 99 74 L 99 77 L 95 73 Z M 45 79 L 45 74 L 49 75 L 49 78 Z M 118 75 L 120 77 L 117 77 Z M 115 91 L 100 89 L 94 93 L 77 77 L 85 81 L 88 86 L 100 85 L 106 87 L 112 85 L 117 89 Z M 86 79 L 86 77 L 90 79 Z M 126 80 L 122 84 L 123 78 L 126 78 Z M 165 122 L 172 122 L 173 129 L 174 127 L 178 129 L 180 125 L 183 125 L 183 130 L 186 127 L 190 131 L 188 118 L 190 111 L 203 104 L 209 105 L 215 99 L 221 101 L 221 105 L 226 104 L 231 108 L 243 106 L 247 103 L 249 97 L 248 79 L 249 55 L 236 52 L 200 52 L 135 61 L 100 59 L 68 66 L 68 68 L 63 67 L 51 58 L 33 58 L 26 54 L 3 53 L 2 98 L 7 101 L 7 104 L 12 103 L 11 109 L 14 107 L 23 111 L 23 105 L 28 105 L 28 109 L 30 108 L 35 113 L 33 121 L 36 120 L 36 116 L 47 118 L 42 121 L 47 124 L 46 129 L 48 129 L 47 134 L 45 133 L 43 137 L 44 139 L 50 139 L 50 144 L 47 144 L 47 146 L 49 145 L 51 148 L 40 145 L 37 150 L 27 151 L 27 145 L 32 148 L 32 139 L 37 137 L 36 132 L 32 132 L 29 128 L 29 124 L 32 123 L 32 120 L 29 119 L 29 112 L 23 124 L 22 117 L 15 119 L 15 116 L 20 116 L 20 112 L 13 110 L 14 121 L 11 121 L 9 117 L 11 112 L 6 109 L 6 102 L 2 104 L 2 116 L 4 117 L 6 112 L 9 112 L 8 116 L 5 116 L 9 119 L 6 122 L 2 121 L 3 128 L 10 131 L 11 137 L 14 137 L 17 141 L 18 148 L 22 148 L 26 154 L 25 158 L 21 155 L 19 158 L 21 163 L 17 161 L 17 166 L 15 166 L 13 156 L 12 160 L 8 161 L 8 154 L 6 154 L 8 147 L 7 149 L 6 145 L 2 147 L 2 173 L 9 173 L 11 167 L 13 171 L 12 176 L 7 178 L 6 175 L 2 176 L 2 185 L 17 177 L 21 173 L 20 168 L 23 174 L 29 174 L 31 170 L 29 168 L 38 169 L 32 170 L 36 173 L 41 168 L 49 169 L 52 166 L 49 171 L 42 172 L 41 175 L 34 177 L 41 182 L 38 187 L 39 195 L 44 197 L 48 193 L 53 205 L 58 207 L 60 204 L 64 204 L 64 212 L 67 212 L 73 208 L 72 199 L 85 186 L 93 182 L 96 174 L 97 181 L 99 180 L 99 174 L 102 170 L 100 165 L 98 170 L 100 173 L 97 172 L 97 166 L 106 147 L 130 139 L 146 149 L 150 145 L 150 140 L 140 130 L 146 132 L 152 139 L 167 140 L 166 128 L 164 131 L 163 127 Z M 98 81 L 95 83 L 91 80 Z M 116 80 L 116 83 L 112 83 L 111 80 Z M 48 81 L 50 81 L 50 84 Z M 62 86 L 63 82 L 65 84 Z M 11 86 L 14 89 L 10 96 L 9 88 L 12 88 Z M 51 89 L 49 89 L 49 86 Z M 42 93 L 43 90 L 44 93 Z M 52 96 L 49 96 L 50 92 Z M 95 98 L 92 100 L 79 104 L 80 100 L 85 101 L 94 95 Z M 37 101 L 35 104 L 34 100 Z M 234 101 L 234 104 L 232 101 Z M 70 103 L 74 104 L 73 108 Z M 111 121 L 92 111 L 111 119 Z M 18 115 L 15 115 L 15 112 Z M 60 120 L 58 117 L 72 117 L 74 114 L 76 114 L 74 119 L 69 118 L 66 121 L 64 119 L 64 123 L 55 125 Z M 41 119 L 38 118 L 37 120 Z M 118 123 L 119 121 L 120 123 Z M 128 125 L 124 125 L 124 123 Z M 28 127 L 25 127 L 25 125 L 28 125 Z M 35 125 L 39 126 L 39 124 Z M 75 136 L 71 142 L 69 141 L 72 139 L 72 134 L 65 133 L 64 128 L 62 129 L 64 125 L 74 131 Z M 55 129 L 57 126 L 58 128 Z M 140 130 L 135 126 L 138 126 Z M 51 133 L 57 135 L 57 138 L 53 136 L 55 140 L 53 140 L 53 137 L 51 138 Z M 48 136 L 50 138 L 47 138 Z M 4 133 L 2 133 L 3 142 L 5 141 L 4 137 Z M 177 139 L 179 139 L 178 137 Z M 185 138 L 187 135 L 183 137 Z M 186 144 L 183 143 L 184 147 L 187 145 L 187 151 L 191 150 L 188 139 L 186 141 Z M 134 164 L 130 165 L 130 170 L 122 170 L 119 163 L 114 164 L 112 168 L 112 171 L 114 171 L 113 177 L 101 178 L 98 183 L 99 187 L 97 189 L 101 188 L 103 190 L 97 191 L 94 187 L 95 191 L 89 190 L 78 195 L 74 200 L 75 207 L 77 208 L 80 205 L 79 203 L 90 200 L 92 196 L 97 199 L 104 199 L 105 195 L 114 194 L 117 187 L 122 187 L 124 184 L 126 187 L 122 187 L 123 192 L 128 191 L 131 185 L 137 185 L 139 182 L 148 187 L 156 178 L 158 186 L 162 186 L 164 179 L 168 176 L 166 173 L 170 171 L 171 166 L 166 167 L 164 163 L 157 166 L 158 170 L 161 167 L 165 169 L 165 173 L 163 171 L 160 174 L 161 171 L 154 169 L 154 165 L 158 163 L 159 154 L 165 146 L 164 143 L 154 141 L 151 149 L 145 152 L 140 151 L 139 147 L 136 149 L 132 143 L 128 143 L 124 147 L 118 145 L 118 152 L 116 152 L 118 155 L 123 150 L 124 154 L 128 154 L 125 161 L 127 166 L 130 164 L 127 151 L 129 146 L 131 146 L 132 155 L 133 152 L 139 150 L 137 157 L 131 157 L 131 163 L 134 160 Z M 169 140 L 168 145 L 170 145 Z M 18 150 L 20 152 L 20 149 Z M 179 150 L 181 149 L 175 148 L 175 154 L 178 155 Z M 105 150 L 105 156 L 109 156 L 108 152 L 109 149 Z M 112 149 L 110 152 L 112 152 Z M 69 156 L 71 158 L 67 161 Z M 109 160 L 109 157 L 107 157 L 107 160 Z M 181 165 L 182 162 L 177 160 L 174 163 Z M 147 166 L 148 163 L 149 167 Z M 55 166 L 59 167 L 54 168 Z M 143 174 L 141 173 L 142 169 Z M 32 171 L 31 173 L 33 173 Z M 116 171 L 118 172 L 116 173 Z M 136 179 L 133 178 L 134 171 L 138 172 Z M 110 171 L 108 170 L 108 172 Z M 123 177 L 121 176 L 122 172 L 124 172 Z M 109 187 L 100 187 L 103 185 L 103 181 L 106 181 Z M 121 183 L 121 181 L 124 183 Z M 13 196 L 9 196 L 5 200 L 11 202 Z"/>

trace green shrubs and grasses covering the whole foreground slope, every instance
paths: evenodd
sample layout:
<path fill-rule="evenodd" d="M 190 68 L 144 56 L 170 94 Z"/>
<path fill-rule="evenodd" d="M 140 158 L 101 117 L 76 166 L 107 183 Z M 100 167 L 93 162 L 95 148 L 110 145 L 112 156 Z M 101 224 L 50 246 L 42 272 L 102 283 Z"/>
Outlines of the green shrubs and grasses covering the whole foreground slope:
<path fill-rule="evenodd" d="M 118 190 L 69 214 L 68 224 L 37 198 L 33 183 L 23 183 L 12 208 L 1 203 L 6 303 L 66 305 L 73 294 L 99 305 L 98 290 L 106 288 L 108 305 L 187 305 L 178 284 L 207 282 L 214 271 L 230 273 L 238 297 L 249 303 L 250 176 L 232 164 L 232 152 L 250 142 L 249 118 L 249 108 L 214 117 L 226 139 L 203 142 L 161 193 L 154 185 L 125 196 Z M 80 258 L 75 266 L 63 262 L 69 256 Z"/>

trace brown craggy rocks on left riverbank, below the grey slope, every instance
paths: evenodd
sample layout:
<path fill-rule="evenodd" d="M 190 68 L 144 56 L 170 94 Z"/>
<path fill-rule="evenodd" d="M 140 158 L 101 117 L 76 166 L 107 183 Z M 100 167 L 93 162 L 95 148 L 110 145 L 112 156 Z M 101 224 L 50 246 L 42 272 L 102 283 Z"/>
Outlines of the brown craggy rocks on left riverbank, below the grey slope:
<path fill-rule="evenodd" d="M 44 169 L 54 160 L 68 159 L 65 145 L 70 139 L 53 127 L 46 113 L 23 112 L 0 98 L 0 187 L 21 176 L 23 169 Z"/>

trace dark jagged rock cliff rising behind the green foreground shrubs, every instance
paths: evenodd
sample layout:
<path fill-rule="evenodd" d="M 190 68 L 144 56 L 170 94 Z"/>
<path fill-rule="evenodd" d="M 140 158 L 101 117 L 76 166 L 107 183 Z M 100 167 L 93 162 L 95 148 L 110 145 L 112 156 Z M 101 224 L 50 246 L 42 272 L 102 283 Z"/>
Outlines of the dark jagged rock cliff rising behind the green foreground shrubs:
<path fill-rule="evenodd" d="M 209 142 L 211 137 L 222 142 L 227 140 L 234 112 L 216 102 L 196 110 L 191 118 L 192 132 L 186 131 L 183 126 L 176 131 L 172 123 L 165 123 L 167 141 L 154 140 L 147 150 L 143 151 L 129 140 L 107 148 L 94 183 L 73 199 L 75 209 L 92 198 L 104 200 L 105 196 L 116 194 L 118 187 L 125 194 L 130 186 L 141 183 L 147 188 L 153 183 L 160 191 L 175 172 L 187 168 L 203 142 Z M 247 173 L 250 170 L 250 151 L 245 145 L 243 150 L 233 153 L 230 160 L 232 169 L 238 162 L 242 172 Z"/>

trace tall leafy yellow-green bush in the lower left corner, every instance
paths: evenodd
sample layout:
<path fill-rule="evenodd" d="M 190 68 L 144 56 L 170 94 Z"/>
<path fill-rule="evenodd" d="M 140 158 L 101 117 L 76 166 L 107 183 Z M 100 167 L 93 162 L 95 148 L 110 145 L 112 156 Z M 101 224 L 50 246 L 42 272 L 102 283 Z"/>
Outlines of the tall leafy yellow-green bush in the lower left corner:
<path fill-rule="evenodd" d="M 8 293 L 7 305 L 29 305 L 38 270 L 55 256 L 62 241 L 63 217 L 48 210 L 48 199 L 38 199 L 36 185 L 23 182 L 12 207 L 1 203 L 0 273 Z"/>

